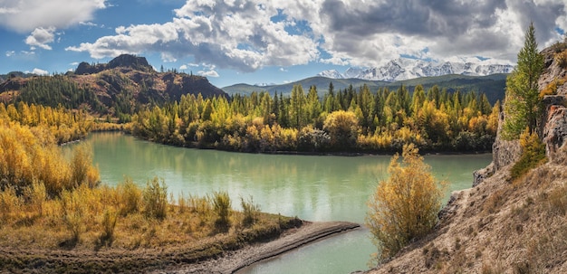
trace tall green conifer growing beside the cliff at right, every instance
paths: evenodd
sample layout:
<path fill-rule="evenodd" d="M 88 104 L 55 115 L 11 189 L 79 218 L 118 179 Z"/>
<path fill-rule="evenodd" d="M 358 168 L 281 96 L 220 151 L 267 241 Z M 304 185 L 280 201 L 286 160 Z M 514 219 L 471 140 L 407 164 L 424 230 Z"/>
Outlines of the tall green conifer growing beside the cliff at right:
<path fill-rule="evenodd" d="M 517 139 L 529 128 L 536 130 L 540 114 L 537 81 L 543 71 L 543 55 L 537 50 L 533 23 L 524 37 L 524 47 L 518 52 L 518 65 L 506 79 L 505 123 L 503 137 Z"/>

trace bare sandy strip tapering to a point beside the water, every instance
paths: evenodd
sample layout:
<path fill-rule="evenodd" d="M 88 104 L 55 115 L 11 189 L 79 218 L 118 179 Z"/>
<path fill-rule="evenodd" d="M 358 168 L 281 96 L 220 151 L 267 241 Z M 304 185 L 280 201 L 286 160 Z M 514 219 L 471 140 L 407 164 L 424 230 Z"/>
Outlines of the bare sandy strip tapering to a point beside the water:
<path fill-rule="evenodd" d="M 256 243 L 240 250 L 229 251 L 225 256 L 216 260 L 207 260 L 155 273 L 235 273 L 261 260 L 274 258 L 313 241 L 358 228 L 360 224 L 352 222 L 304 222 L 300 228 L 286 231 L 274 241 Z"/>

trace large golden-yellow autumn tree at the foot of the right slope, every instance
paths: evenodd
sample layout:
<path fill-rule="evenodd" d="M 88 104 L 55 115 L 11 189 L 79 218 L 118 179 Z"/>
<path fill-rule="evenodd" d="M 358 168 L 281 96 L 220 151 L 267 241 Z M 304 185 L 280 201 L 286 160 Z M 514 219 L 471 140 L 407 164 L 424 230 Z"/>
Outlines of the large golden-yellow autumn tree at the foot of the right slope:
<path fill-rule="evenodd" d="M 392 156 L 389 179 L 380 181 L 370 197 L 366 224 L 378 248 L 378 260 L 394 256 L 410 241 L 426 234 L 437 223 L 444 188 L 413 144 L 403 147 L 402 159 Z"/>

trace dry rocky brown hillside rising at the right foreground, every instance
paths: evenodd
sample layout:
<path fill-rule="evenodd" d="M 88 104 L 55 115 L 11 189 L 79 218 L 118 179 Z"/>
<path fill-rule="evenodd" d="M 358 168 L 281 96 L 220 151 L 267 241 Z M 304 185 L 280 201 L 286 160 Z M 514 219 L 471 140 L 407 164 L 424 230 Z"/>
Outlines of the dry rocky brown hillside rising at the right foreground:
<path fill-rule="evenodd" d="M 493 163 L 451 195 L 437 229 L 370 273 L 567 273 L 567 66 L 556 52 L 543 51 L 539 80 L 540 90 L 554 87 L 541 117 L 548 163 L 511 180 L 521 148 L 497 137 Z"/>

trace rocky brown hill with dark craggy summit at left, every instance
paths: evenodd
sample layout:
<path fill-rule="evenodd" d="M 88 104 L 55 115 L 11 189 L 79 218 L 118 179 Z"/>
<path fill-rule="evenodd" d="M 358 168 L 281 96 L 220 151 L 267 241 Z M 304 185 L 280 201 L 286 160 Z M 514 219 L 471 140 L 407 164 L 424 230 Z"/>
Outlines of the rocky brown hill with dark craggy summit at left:
<path fill-rule="evenodd" d="M 99 114 L 132 114 L 143 105 L 162 105 L 184 94 L 226 96 L 205 77 L 154 71 L 144 57 L 123 54 L 108 63 L 82 62 L 64 75 L 28 76 L 11 73 L 0 81 L 0 101 L 66 108 L 86 108 Z"/>

